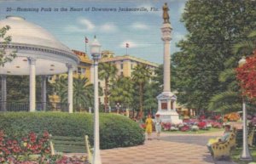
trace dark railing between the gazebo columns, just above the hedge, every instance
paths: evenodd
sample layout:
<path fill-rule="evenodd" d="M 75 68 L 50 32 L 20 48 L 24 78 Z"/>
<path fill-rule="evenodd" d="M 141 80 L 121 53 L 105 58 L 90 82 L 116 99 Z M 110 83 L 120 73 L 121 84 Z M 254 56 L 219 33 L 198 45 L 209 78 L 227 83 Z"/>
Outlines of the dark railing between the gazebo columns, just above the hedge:
<path fill-rule="evenodd" d="M 0 101 L 0 111 L 29 111 L 29 102 Z M 67 103 L 37 102 L 36 111 L 68 111 Z"/>

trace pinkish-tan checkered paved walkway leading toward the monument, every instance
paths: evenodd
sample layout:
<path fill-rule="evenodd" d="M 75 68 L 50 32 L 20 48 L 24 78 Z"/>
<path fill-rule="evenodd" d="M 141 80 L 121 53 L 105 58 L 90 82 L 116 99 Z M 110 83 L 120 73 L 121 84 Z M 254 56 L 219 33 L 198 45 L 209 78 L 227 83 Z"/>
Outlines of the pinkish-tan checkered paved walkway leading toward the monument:
<path fill-rule="evenodd" d="M 206 134 L 162 133 L 160 140 L 112 150 L 101 150 L 102 164 L 214 164 L 208 153 L 207 140 L 223 132 Z M 153 134 L 155 136 L 155 133 Z M 231 164 L 231 161 L 217 161 Z"/>

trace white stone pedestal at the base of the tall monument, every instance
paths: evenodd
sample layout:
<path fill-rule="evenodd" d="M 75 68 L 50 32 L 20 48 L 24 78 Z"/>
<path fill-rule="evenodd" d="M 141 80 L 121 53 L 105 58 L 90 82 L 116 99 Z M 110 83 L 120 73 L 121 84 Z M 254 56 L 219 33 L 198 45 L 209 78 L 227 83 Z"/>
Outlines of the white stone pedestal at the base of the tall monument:
<path fill-rule="evenodd" d="M 160 115 L 161 122 L 182 123 L 176 111 L 177 97 L 171 92 L 163 92 L 157 96 L 158 111 L 156 115 Z"/>

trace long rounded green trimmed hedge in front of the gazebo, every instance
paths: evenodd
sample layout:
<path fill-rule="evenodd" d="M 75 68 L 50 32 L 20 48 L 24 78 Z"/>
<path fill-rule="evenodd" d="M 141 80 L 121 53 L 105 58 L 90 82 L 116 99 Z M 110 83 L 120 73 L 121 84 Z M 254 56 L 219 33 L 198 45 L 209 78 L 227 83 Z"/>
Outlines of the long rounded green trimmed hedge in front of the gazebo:
<path fill-rule="evenodd" d="M 63 112 L 6 112 L 0 114 L 0 129 L 11 137 L 27 133 L 81 137 L 88 135 L 93 145 L 93 114 Z M 101 149 L 127 147 L 144 142 L 144 131 L 125 116 L 100 114 Z"/>

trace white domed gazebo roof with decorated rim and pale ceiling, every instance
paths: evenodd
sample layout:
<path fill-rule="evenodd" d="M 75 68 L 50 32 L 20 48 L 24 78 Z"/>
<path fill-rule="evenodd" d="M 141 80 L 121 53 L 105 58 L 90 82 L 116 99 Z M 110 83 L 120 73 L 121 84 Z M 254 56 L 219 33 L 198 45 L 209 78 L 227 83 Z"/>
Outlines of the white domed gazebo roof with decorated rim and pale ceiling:
<path fill-rule="evenodd" d="M 7 16 L 0 20 L 0 28 L 9 25 L 10 36 L 7 52 L 17 51 L 17 57 L 0 69 L 0 74 L 29 75 L 29 58 L 36 59 L 37 75 L 53 75 L 67 72 L 67 64 L 76 67 L 79 57 L 58 41 L 49 31 L 26 21 L 20 16 Z M 2 40 L 1 40 L 2 39 Z M 0 48 L 3 38 L 0 38 Z"/>

